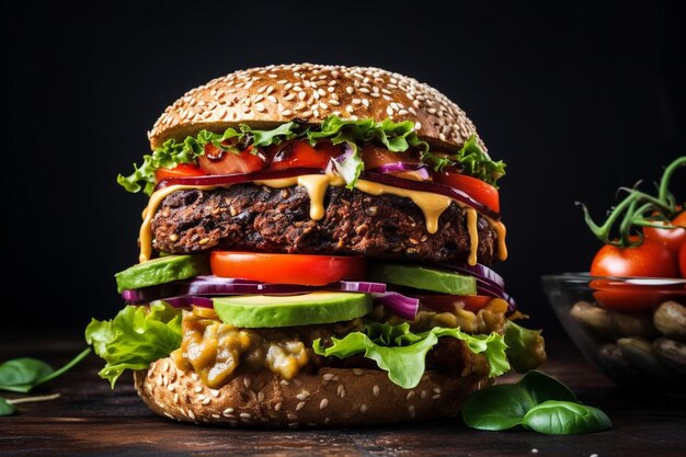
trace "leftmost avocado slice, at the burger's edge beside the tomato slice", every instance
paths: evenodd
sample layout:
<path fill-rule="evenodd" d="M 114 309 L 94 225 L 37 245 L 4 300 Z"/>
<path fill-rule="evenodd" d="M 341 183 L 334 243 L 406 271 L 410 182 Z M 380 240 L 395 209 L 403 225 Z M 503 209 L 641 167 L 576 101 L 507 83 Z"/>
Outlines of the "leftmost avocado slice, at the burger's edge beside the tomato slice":
<path fill-rule="evenodd" d="M 209 274 L 207 255 L 165 255 L 136 264 L 114 275 L 117 292 Z"/>

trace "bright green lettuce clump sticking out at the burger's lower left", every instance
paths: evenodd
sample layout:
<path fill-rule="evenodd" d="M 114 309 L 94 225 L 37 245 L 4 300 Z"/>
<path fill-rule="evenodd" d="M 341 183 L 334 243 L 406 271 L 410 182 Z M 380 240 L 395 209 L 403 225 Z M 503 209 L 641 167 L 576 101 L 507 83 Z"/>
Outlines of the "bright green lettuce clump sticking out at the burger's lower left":
<path fill-rule="evenodd" d="M 181 311 L 162 301 L 149 309 L 127 306 L 112 320 L 92 319 L 85 328 L 85 341 L 105 359 L 99 375 L 114 388 L 125 369 L 148 369 L 151 362 L 179 349 Z"/>

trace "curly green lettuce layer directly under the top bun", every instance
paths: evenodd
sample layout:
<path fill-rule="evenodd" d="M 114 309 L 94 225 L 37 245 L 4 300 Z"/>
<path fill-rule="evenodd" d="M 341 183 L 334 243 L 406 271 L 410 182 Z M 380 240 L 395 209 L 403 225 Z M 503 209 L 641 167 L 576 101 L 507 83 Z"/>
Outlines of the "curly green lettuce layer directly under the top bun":
<path fill-rule="evenodd" d="M 471 136 L 458 152 L 448 155 L 431 151 L 428 142 L 421 140 L 416 135 L 414 123 L 411 121 L 398 123 L 388 118 L 382 122 L 371 118 L 353 121 L 331 115 L 316 128 L 289 122 L 271 130 L 259 130 L 241 124 L 238 130 L 227 128 L 222 134 L 201 130 L 196 136 L 188 136 L 181 142 L 169 139 L 152 155 L 144 156 L 142 164 L 134 164 L 132 174 L 128 176 L 119 174 L 117 182 L 128 192 L 142 191 L 150 195 L 155 190 L 156 170 L 172 169 L 181 163 L 197 163 L 197 158 L 205 153 L 205 146 L 208 144 L 238 153 L 249 145 L 266 147 L 294 138 L 307 139 L 311 145 L 321 139 L 327 139 L 333 145 L 346 145 L 347 152 L 333 161 L 333 164 L 348 188 L 355 186 L 364 170 L 359 148 L 369 144 L 385 146 L 391 152 L 413 149 L 420 153 L 422 163 L 436 171 L 455 167 L 493 185 L 505 174 L 505 163 L 491 160 L 479 146 L 477 136 Z M 224 144 L 227 140 L 231 140 L 228 141 L 230 146 Z M 253 149 L 253 152 L 256 153 L 258 150 Z"/>

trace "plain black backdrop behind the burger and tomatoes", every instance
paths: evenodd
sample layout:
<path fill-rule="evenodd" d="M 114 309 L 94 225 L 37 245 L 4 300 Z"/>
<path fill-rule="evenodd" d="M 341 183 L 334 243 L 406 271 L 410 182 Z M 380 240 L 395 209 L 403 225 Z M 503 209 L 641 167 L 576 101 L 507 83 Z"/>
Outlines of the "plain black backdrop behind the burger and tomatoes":
<path fill-rule="evenodd" d="M 511 256 L 495 269 L 548 334 L 560 328 L 541 274 L 587 270 L 599 248 L 574 201 L 599 218 L 618 186 L 686 151 L 678 1 L 93 3 L 3 5 L 3 333 L 114 316 L 146 204 L 115 176 L 168 104 L 237 69 L 377 66 L 456 101 L 508 164 Z"/>

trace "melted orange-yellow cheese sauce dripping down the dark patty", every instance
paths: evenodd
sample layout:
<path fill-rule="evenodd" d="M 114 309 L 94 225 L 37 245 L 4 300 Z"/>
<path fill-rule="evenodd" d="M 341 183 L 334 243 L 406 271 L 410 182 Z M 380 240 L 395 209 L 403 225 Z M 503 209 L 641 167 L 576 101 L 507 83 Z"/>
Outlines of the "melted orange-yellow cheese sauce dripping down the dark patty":
<path fill-rule="evenodd" d="M 256 185 L 266 185 L 273 188 L 283 188 L 298 185 L 305 187 L 310 197 L 310 218 L 321 220 L 324 217 L 324 195 L 330 185 L 344 185 L 345 182 L 341 176 L 332 173 L 327 174 L 305 174 L 301 176 L 282 178 L 276 180 L 253 181 Z M 142 212 L 142 224 L 140 226 L 139 241 L 140 255 L 138 260 L 146 262 L 152 255 L 152 217 L 157 212 L 164 197 L 169 194 L 186 188 L 198 188 L 201 191 L 209 191 L 219 185 L 170 185 L 161 188 L 150 196 L 148 206 Z M 386 184 L 379 184 L 371 181 L 357 180 L 355 188 L 370 195 L 397 195 L 410 198 L 424 214 L 426 231 L 436 233 L 438 231 L 438 218 L 445 212 L 450 203 L 455 202 L 467 210 L 467 230 L 469 232 L 469 258 L 468 263 L 475 265 L 477 263 L 477 250 L 479 248 L 479 232 L 477 230 L 478 214 L 475 208 L 465 205 L 461 202 L 454 201 L 445 195 L 433 194 L 431 192 L 410 191 L 400 187 L 393 187 Z M 485 217 L 485 216 L 484 216 Z M 489 224 L 498 235 L 498 258 L 505 260 L 507 258 L 507 247 L 505 244 L 505 226 L 501 221 L 487 217 Z"/>

